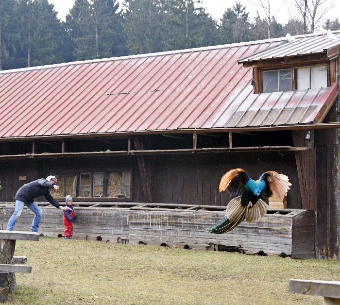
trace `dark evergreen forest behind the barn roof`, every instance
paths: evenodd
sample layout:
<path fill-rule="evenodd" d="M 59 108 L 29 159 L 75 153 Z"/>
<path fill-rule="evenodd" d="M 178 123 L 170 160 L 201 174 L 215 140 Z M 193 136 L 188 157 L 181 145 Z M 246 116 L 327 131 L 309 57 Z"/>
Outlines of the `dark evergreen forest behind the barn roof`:
<path fill-rule="evenodd" d="M 325 28 L 339 29 L 339 19 Z M 236 1 L 220 20 L 200 0 L 75 0 L 65 21 L 48 0 L 0 0 L 0 70 L 191 49 L 306 34 L 287 24 L 250 20 Z"/>

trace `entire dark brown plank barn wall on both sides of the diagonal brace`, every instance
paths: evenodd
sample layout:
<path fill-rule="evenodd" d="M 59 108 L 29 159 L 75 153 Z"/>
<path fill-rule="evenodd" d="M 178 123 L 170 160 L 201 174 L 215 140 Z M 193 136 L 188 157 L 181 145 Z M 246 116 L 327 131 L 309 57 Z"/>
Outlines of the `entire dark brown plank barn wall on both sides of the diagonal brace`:
<path fill-rule="evenodd" d="M 229 169 L 243 168 L 252 178 L 276 170 L 289 176 L 288 208 L 302 208 L 294 153 L 183 154 L 145 158 L 153 202 L 227 205 L 230 196 L 219 192 L 221 176 Z M 136 156 L 107 158 L 30 159 L 0 163 L 3 190 L 0 201 L 13 202 L 24 183 L 44 178 L 53 170 L 133 168 L 133 202 L 145 202 Z M 18 180 L 27 176 L 27 180 Z M 41 199 L 43 200 L 43 199 Z"/>

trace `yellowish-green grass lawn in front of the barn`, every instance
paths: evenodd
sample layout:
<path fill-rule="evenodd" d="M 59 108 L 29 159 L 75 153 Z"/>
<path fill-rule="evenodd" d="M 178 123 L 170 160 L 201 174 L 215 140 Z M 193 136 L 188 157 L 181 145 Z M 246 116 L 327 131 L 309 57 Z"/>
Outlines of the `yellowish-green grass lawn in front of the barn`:
<path fill-rule="evenodd" d="M 17 240 L 32 273 L 10 304 L 322 304 L 289 279 L 340 280 L 340 261 L 41 237 Z"/>

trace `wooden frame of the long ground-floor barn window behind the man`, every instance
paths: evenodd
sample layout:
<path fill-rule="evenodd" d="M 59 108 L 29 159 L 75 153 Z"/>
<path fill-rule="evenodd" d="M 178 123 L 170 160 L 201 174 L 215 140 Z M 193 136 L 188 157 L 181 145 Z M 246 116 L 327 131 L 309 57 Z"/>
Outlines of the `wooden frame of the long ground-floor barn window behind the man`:
<path fill-rule="evenodd" d="M 113 172 L 113 171 L 129 171 L 130 172 L 130 197 L 124 197 L 124 198 L 118 198 L 118 197 L 75 197 L 73 198 L 74 202 L 103 202 L 103 201 L 123 201 L 123 202 L 132 202 L 132 197 L 133 197 L 133 168 L 105 168 L 105 169 L 64 169 L 64 170 L 60 170 L 60 169 L 55 169 L 55 170 L 49 170 L 47 175 L 52 175 L 53 173 L 63 173 L 64 174 L 64 197 L 55 197 L 53 195 L 52 192 L 52 197 L 55 198 L 57 201 L 61 201 L 61 200 L 65 200 L 66 197 L 66 174 L 69 172 L 73 172 L 76 173 L 78 176 L 80 176 L 80 174 L 82 173 L 91 173 L 91 195 L 93 194 L 93 190 L 92 188 L 94 187 L 94 179 L 93 179 L 93 174 L 94 173 L 98 173 L 98 172 L 103 172 L 104 173 L 104 181 L 106 181 L 107 184 L 107 174 L 109 172 Z M 59 181 L 58 181 L 59 182 Z M 58 185 L 57 182 L 57 185 Z M 105 187 L 105 186 L 103 186 Z M 107 186 L 106 186 L 107 187 Z M 77 180 L 77 190 L 76 193 L 79 194 L 80 193 L 80 181 L 79 179 Z"/>

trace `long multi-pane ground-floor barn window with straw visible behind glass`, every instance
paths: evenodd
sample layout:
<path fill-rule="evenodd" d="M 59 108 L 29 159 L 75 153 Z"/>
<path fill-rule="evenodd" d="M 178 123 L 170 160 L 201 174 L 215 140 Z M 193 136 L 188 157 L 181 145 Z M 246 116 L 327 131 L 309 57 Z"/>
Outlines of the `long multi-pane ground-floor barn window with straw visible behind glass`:
<path fill-rule="evenodd" d="M 132 171 L 51 172 L 60 187 L 54 198 L 131 199 Z"/>

